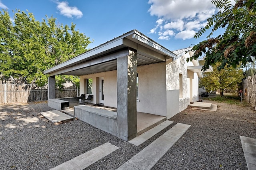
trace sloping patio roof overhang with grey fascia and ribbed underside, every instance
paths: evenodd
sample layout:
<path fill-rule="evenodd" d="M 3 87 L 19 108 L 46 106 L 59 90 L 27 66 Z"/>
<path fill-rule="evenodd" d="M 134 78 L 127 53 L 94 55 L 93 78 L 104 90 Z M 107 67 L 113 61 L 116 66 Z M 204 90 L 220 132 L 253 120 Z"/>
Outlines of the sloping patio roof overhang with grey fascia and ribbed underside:
<path fill-rule="evenodd" d="M 88 75 L 116 70 L 117 58 L 129 55 L 129 51 L 137 53 L 137 66 L 165 62 L 176 59 L 177 55 L 162 45 L 154 42 L 137 30 L 132 30 L 90 49 L 64 63 L 44 71 L 49 76 Z"/>

